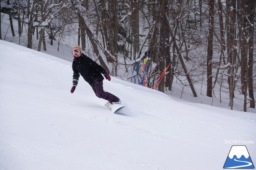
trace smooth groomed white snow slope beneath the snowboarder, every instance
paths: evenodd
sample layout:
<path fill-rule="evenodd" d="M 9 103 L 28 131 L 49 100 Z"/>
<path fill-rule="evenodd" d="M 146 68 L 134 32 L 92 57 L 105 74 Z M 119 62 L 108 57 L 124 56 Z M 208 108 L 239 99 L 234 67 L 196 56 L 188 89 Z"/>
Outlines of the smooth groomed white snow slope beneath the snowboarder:
<path fill-rule="evenodd" d="M 255 113 L 112 77 L 105 90 L 127 106 L 113 114 L 82 77 L 70 93 L 71 62 L 2 40 L 0 51 L 0 169 L 216 170 L 232 145 L 256 162 Z"/>

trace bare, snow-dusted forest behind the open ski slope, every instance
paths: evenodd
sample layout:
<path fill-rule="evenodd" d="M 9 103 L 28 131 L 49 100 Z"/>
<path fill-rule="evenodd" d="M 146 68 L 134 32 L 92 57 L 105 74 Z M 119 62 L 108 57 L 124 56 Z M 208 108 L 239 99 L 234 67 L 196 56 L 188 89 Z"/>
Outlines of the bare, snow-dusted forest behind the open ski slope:
<path fill-rule="evenodd" d="M 182 90 L 189 87 L 194 97 L 219 93 L 220 103 L 224 93 L 231 110 L 234 98 L 239 98 L 242 111 L 247 111 L 255 108 L 255 3 L 1 0 L 9 24 L 2 29 L 0 18 L 0 38 L 12 42 L 7 36 L 11 33 L 18 44 L 38 51 L 47 51 L 47 43 L 58 44 L 58 51 L 61 44 L 80 45 L 110 75 L 142 85 L 145 80 L 149 88 L 159 80 L 157 90 L 163 93 L 173 91 L 174 82 Z"/>

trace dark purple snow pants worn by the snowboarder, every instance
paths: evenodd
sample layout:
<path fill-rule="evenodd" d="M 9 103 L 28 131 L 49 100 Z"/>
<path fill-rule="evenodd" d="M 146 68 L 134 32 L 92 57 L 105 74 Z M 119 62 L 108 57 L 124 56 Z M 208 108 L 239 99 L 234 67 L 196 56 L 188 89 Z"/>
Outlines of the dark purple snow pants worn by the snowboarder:
<path fill-rule="evenodd" d="M 103 90 L 103 82 L 95 84 L 92 88 L 93 88 L 95 95 L 99 98 L 103 98 L 103 99 L 109 101 L 110 103 L 119 101 L 118 97 Z"/>

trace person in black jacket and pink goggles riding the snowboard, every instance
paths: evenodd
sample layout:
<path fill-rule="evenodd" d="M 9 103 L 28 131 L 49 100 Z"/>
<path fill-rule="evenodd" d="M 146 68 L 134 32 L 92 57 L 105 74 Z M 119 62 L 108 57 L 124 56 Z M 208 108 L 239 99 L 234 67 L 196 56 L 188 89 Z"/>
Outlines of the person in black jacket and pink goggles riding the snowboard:
<path fill-rule="evenodd" d="M 108 81 L 111 80 L 109 74 L 104 68 L 98 65 L 95 61 L 87 57 L 82 53 L 80 46 L 75 46 L 72 49 L 72 54 L 74 56 L 72 69 L 73 69 L 73 86 L 70 90 L 71 93 L 74 93 L 76 86 L 78 84 L 79 76 L 83 77 L 86 82 L 90 84 L 93 88 L 95 95 L 99 98 L 106 99 L 111 104 L 121 104 L 121 101 L 115 95 L 108 93 L 103 90 L 103 74 Z"/>

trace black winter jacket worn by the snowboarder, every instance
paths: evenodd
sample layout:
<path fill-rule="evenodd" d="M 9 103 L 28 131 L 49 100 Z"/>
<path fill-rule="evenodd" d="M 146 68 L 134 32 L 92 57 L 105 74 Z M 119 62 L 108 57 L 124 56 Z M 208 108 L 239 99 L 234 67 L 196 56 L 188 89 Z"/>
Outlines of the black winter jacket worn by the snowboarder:
<path fill-rule="evenodd" d="M 98 65 L 95 61 L 87 57 L 85 54 L 82 54 L 80 57 L 74 57 L 73 64 L 73 80 L 79 80 L 79 76 L 83 77 L 90 86 L 94 86 L 97 83 L 100 83 L 104 80 L 104 77 L 101 75 L 106 75 L 107 72 L 104 68 Z"/>

